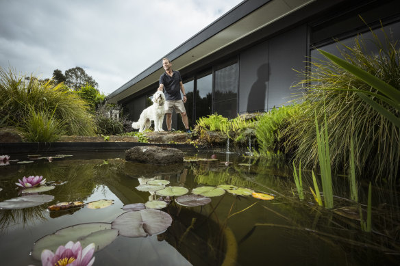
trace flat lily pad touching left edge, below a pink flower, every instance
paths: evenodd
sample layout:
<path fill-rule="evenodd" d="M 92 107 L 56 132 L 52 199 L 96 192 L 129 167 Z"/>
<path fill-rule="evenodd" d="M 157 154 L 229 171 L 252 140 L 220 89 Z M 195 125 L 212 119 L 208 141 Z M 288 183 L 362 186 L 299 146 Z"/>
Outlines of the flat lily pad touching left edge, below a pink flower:
<path fill-rule="evenodd" d="M 35 207 L 46 202 L 51 202 L 54 196 L 51 195 L 29 195 L 18 198 L 10 198 L 10 200 L 4 200 L 0 202 L 0 209 L 24 209 L 29 207 Z"/>

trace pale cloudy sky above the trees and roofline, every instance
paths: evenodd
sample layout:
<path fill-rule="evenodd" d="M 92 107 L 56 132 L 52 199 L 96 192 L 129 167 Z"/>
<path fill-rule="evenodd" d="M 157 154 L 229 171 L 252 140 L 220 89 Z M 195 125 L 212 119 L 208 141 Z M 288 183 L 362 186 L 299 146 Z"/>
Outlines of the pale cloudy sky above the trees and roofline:
<path fill-rule="evenodd" d="M 0 0 L 0 66 L 40 79 L 80 66 L 108 95 L 241 1 Z"/>

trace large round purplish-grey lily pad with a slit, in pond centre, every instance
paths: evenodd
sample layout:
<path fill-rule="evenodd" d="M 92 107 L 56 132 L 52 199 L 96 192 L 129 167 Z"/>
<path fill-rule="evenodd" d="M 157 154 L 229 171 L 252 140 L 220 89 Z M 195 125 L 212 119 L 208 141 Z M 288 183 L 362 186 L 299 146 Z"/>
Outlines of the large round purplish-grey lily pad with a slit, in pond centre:
<path fill-rule="evenodd" d="M 116 217 L 112 228 L 124 237 L 147 237 L 158 235 L 171 226 L 172 217 L 164 211 L 145 209 L 129 211 Z"/>

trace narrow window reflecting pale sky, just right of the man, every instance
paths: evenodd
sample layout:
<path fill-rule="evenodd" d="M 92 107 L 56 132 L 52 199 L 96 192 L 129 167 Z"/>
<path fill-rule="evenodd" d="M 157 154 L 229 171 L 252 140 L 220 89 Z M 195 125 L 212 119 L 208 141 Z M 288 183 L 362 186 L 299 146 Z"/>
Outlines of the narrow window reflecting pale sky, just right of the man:
<path fill-rule="evenodd" d="M 195 121 L 208 116 L 212 111 L 212 72 L 197 77 Z"/>

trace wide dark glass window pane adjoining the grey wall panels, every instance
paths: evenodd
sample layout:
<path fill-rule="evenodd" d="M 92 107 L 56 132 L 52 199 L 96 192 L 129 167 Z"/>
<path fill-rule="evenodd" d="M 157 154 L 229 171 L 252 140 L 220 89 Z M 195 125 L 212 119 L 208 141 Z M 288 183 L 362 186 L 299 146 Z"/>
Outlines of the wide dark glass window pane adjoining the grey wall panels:
<path fill-rule="evenodd" d="M 238 112 L 238 63 L 215 71 L 214 112 L 235 118 Z"/>

